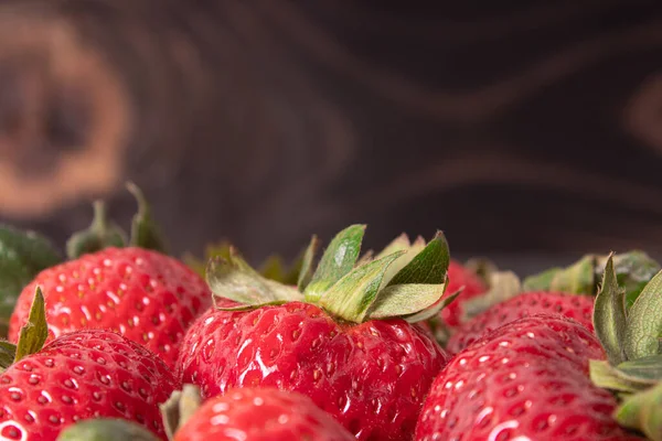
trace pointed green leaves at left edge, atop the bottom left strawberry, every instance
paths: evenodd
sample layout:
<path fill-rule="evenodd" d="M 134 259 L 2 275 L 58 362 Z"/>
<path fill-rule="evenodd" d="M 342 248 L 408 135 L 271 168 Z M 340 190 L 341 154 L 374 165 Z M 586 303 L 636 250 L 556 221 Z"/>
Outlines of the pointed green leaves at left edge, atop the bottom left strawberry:
<path fill-rule="evenodd" d="M 41 288 L 36 288 L 28 322 L 21 327 L 15 345 L 0 341 L 0 373 L 28 355 L 38 353 L 49 337 L 46 305 Z"/>

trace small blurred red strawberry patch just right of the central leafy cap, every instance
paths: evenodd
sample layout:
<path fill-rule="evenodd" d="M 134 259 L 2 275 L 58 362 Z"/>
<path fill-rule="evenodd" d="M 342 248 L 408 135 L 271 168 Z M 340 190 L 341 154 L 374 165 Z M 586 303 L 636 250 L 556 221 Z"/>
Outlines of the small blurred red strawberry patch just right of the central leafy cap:
<path fill-rule="evenodd" d="M 448 287 L 444 297 L 448 297 L 465 287 L 460 295 L 448 306 L 441 310 L 441 319 L 449 327 L 459 326 L 462 320 L 462 303 L 471 298 L 484 293 L 488 288 L 483 281 L 472 271 L 451 260 L 448 266 Z"/>

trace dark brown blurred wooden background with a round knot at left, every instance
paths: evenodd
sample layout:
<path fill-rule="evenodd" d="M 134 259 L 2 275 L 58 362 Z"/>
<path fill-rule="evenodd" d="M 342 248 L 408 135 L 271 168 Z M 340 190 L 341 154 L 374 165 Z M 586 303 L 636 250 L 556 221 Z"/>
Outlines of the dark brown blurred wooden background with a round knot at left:
<path fill-rule="evenodd" d="M 177 254 L 662 255 L 662 2 L 433 4 L 0 0 L 0 220 L 128 223 L 132 179 Z"/>

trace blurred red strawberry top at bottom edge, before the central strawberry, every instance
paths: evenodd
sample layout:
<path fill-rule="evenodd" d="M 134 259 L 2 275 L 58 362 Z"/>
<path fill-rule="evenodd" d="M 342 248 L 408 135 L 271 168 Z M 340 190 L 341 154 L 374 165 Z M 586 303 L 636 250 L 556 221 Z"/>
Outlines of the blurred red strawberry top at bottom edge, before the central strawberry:
<path fill-rule="evenodd" d="M 310 398 L 273 388 L 234 389 L 207 400 L 174 441 L 355 441 Z"/>

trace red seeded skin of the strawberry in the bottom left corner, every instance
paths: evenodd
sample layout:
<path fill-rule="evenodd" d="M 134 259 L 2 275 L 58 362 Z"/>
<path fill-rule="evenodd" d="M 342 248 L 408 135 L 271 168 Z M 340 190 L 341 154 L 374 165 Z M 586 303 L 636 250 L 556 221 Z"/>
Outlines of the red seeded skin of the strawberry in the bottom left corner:
<path fill-rule="evenodd" d="M 93 417 L 132 420 L 166 439 L 158 405 L 177 388 L 141 345 L 109 331 L 68 333 L 0 375 L 0 439 L 51 441 Z"/>

